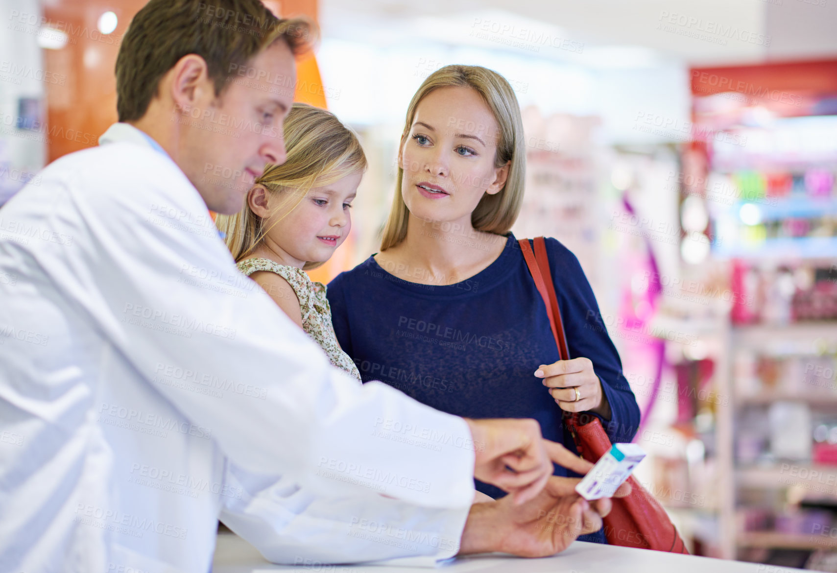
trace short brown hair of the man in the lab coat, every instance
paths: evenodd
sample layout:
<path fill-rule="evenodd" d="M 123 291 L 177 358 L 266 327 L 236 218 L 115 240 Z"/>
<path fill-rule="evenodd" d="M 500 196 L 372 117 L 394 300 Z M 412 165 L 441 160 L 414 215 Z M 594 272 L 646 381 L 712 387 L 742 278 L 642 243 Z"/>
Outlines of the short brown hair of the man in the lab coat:
<path fill-rule="evenodd" d="M 220 95 L 262 49 L 284 40 L 298 56 L 311 49 L 315 33 L 311 21 L 280 20 L 260 0 L 150 0 L 131 20 L 116 57 L 119 120 L 146 115 L 162 76 L 187 54 L 206 61 Z"/>

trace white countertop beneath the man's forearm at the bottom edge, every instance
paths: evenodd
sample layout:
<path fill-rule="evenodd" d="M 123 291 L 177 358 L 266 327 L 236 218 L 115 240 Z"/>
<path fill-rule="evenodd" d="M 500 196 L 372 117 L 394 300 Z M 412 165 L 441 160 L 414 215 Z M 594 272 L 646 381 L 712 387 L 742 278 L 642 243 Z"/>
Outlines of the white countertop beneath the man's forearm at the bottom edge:
<path fill-rule="evenodd" d="M 218 545 L 213 560 L 213 573 L 258 573 L 268 570 L 305 571 L 305 573 L 421 573 L 434 571 L 415 567 L 392 567 L 385 565 L 325 565 L 307 566 L 273 565 L 264 560 L 257 550 L 238 535 L 218 535 Z M 462 557 L 439 568 L 444 573 L 465 573 L 465 571 L 492 571 L 493 573 L 539 573 L 540 571 L 565 571 L 567 573 L 614 573 L 616 571 L 638 571 L 640 573 L 790 573 L 801 571 L 779 567 L 695 557 L 674 555 L 661 551 L 629 549 L 615 545 L 598 545 L 576 541 L 567 550 L 553 557 L 543 559 L 521 559 L 507 555 L 481 555 Z"/>

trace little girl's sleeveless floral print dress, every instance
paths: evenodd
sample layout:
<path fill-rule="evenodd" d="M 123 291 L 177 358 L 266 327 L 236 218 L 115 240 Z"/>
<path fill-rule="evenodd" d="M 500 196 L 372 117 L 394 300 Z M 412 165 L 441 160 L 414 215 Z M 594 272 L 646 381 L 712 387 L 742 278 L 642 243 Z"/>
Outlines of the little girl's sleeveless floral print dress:
<path fill-rule="evenodd" d="M 247 276 L 267 271 L 288 281 L 296 293 L 296 298 L 300 299 L 303 330 L 326 352 L 331 364 L 347 371 L 357 378 L 357 381 L 361 380 L 357 366 L 337 344 L 334 327 L 331 325 L 331 307 L 326 299 L 325 284 L 315 283 L 302 269 L 275 263 L 269 258 L 246 258 L 239 262 L 239 270 Z"/>

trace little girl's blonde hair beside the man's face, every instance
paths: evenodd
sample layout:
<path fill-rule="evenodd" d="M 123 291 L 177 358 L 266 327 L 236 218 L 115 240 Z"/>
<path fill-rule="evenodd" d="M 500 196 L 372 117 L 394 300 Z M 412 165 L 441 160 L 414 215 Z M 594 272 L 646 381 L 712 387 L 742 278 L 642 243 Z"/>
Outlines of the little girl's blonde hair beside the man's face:
<path fill-rule="evenodd" d="M 284 211 L 279 223 L 302 202 L 313 187 L 323 187 L 356 171 L 366 171 L 367 159 L 354 132 L 329 111 L 313 105 L 295 103 L 283 124 L 287 159 L 282 165 L 269 164 L 255 180 L 270 194 L 285 195 L 278 209 Z M 218 230 L 236 261 L 246 257 L 264 240 L 270 228 L 250 209 L 249 201 L 234 215 L 218 215 Z M 322 263 L 306 263 L 303 269 L 316 269 Z"/>

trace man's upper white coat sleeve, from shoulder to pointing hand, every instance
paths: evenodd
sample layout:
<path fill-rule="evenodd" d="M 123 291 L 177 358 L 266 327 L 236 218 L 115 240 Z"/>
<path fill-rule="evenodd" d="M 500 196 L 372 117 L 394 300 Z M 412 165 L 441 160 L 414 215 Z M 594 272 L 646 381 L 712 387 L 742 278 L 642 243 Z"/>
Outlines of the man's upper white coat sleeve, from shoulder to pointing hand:
<path fill-rule="evenodd" d="M 77 161 L 55 182 L 67 190 L 56 201 L 72 203 L 62 212 L 78 217 L 50 222 L 77 240 L 39 253 L 39 263 L 151 386 L 210 428 L 223 453 L 317 494 L 470 504 L 474 451 L 462 418 L 383 383 L 358 386 L 332 367 L 239 274 L 203 200 L 167 157 L 127 143 L 85 153 L 95 156 L 90 166 Z M 113 182 L 119 192 L 106 188 Z"/>

